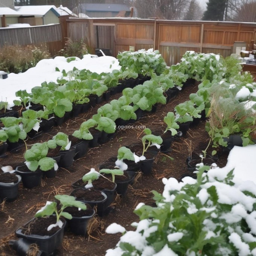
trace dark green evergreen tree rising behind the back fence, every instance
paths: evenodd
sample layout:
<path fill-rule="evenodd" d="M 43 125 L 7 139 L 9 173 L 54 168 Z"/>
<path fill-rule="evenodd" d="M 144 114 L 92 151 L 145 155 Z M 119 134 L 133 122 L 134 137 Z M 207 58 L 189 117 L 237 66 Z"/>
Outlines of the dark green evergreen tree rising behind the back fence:
<path fill-rule="evenodd" d="M 227 0 L 209 0 L 202 20 L 223 21 Z"/>

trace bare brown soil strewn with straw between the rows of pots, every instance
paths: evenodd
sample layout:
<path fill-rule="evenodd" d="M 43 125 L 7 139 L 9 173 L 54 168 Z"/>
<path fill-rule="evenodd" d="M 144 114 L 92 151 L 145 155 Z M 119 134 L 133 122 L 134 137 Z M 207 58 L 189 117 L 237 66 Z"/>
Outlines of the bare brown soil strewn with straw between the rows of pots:
<path fill-rule="evenodd" d="M 72 183 L 82 178 L 84 174 L 90 171 L 91 168 L 97 169 L 99 165 L 106 162 L 108 158 L 117 156 L 117 151 L 121 146 L 129 146 L 138 143 L 141 150 L 141 138 L 143 130 L 146 126 L 152 131 L 164 127 L 163 118 L 169 111 L 174 111 L 174 107 L 189 99 L 190 93 L 195 93 L 197 86 L 190 86 L 182 90 L 174 99 L 166 105 L 158 104 L 156 113 L 148 114 L 142 117 L 138 122 L 132 123 L 129 129 L 119 129 L 117 136 L 109 142 L 98 145 L 95 148 L 90 148 L 85 157 L 73 162 L 70 168 L 59 168 L 55 178 L 42 180 L 41 186 L 33 189 L 26 189 L 22 183 L 19 185 L 19 195 L 12 203 L 4 203 L 0 205 L 0 255 L 11 256 L 15 255 L 8 241 L 17 239 L 14 235 L 16 229 L 24 225 L 32 219 L 46 201 L 54 200 L 56 194 L 69 195 L 73 188 Z M 117 99 L 121 94 L 116 94 L 110 97 L 109 101 Z M 29 139 L 26 141 L 28 148 L 36 142 L 45 142 L 52 139 L 56 133 L 62 131 L 66 134 L 72 134 L 79 128 L 82 122 L 90 119 L 93 114 L 97 113 L 98 107 L 106 102 L 96 105 L 91 108 L 88 113 L 80 114 L 78 117 L 67 120 L 61 126 L 54 126 L 48 133 L 43 133 L 37 139 Z M 184 175 L 190 175 L 191 171 L 187 169 L 186 158 L 190 155 L 193 149 L 204 150 L 200 148 L 199 143 L 209 142 L 209 136 L 205 131 L 205 122 L 201 120 L 198 126 L 194 126 L 187 132 L 185 137 L 175 140 L 172 143 L 170 152 L 158 153 L 155 158 L 152 172 L 148 175 L 141 173 L 136 175 L 133 185 L 129 185 L 127 194 L 124 197 L 116 195 L 115 200 L 111 204 L 110 213 L 106 216 L 99 217 L 95 215 L 92 221 L 88 224 L 88 235 L 75 236 L 70 232 L 65 232 L 63 247 L 58 251 L 58 256 L 103 256 L 105 251 L 113 248 L 119 241 L 120 235 L 105 234 L 105 229 L 113 222 L 120 224 L 126 230 L 133 230 L 130 226 L 132 222 L 138 222 L 139 218 L 133 213 L 133 210 L 138 203 L 143 202 L 150 206 L 154 206 L 152 199 L 152 190 L 159 193 L 163 192 L 164 185 L 162 178 L 174 177 L 180 179 Z M 153 133 L 154 134 L 154 133 Z M 131 145 L 130 148 L 133 148 Z M 150 149 L 155 147 L 150 147 Z M 6 152 L 7 157 L 0 158 L 0 165 L 11 165 L 15 168 L 21 162 L 24 162 L 23 154 L 25 145 L 18 154 Z M 138 148 L 134 146 L 133 150 Z M 132 151 L 133 151 L 132 150 Z M 133 151 L 133 152 L 135 152 Z M 209 154 L 212 148 L 209 148 Z M 171 158 L 173 160 L 171 160 Z M 227 155 L 220 155 L 217 162 L 218 166 L 226 165 Z"/>

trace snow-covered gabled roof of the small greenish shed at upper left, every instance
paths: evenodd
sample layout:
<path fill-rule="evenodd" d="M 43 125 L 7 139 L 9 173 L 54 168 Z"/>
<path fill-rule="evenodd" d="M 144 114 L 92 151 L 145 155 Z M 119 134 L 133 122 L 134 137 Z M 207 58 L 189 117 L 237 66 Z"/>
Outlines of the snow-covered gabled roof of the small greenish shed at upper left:
<path fill-rule="evenodd" d="M 15 6 L 18 16 L 35 16 L 42 17 L 50 10 L 57 16 L 61 16 L 55 9 L 54 5 L 27 5 L 27 6 Z"/>

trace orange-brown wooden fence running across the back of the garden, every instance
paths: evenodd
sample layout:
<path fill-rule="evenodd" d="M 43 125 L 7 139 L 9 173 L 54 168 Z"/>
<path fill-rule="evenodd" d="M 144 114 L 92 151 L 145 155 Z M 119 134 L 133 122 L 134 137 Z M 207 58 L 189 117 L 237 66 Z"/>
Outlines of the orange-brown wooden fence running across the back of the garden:
<path fill-rule="evenodd" d="M 158 49 L 168 65 L 176 64 L 187 50 L 233 53 L 235 41 L 244 41 L 247 50 L 256 40 L 256 23 L 219 21 L 169 21 L 123 18 L 69 18 L 67 36 L 84 40 L 91 53 L 110 49 L 116 56 L 123 50 Z"/>

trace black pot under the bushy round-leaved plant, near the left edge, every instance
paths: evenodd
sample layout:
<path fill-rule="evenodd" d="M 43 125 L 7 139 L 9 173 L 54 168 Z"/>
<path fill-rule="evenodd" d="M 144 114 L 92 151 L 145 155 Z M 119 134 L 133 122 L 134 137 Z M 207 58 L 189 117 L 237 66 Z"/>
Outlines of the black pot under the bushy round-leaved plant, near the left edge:
<path fill-rule="evenodd" d="M 21 171 L 20 169 L 27 169 L 27 171 Z M 26 187 L 28 189 L 39 186 L 41 184 L 41 179 L 43 176 L 43 173 L 40 169 L 32 172 L 26 167 L 26 165 L 17 166 L 15 174 L 21 176 L 23 187 Z"/>

